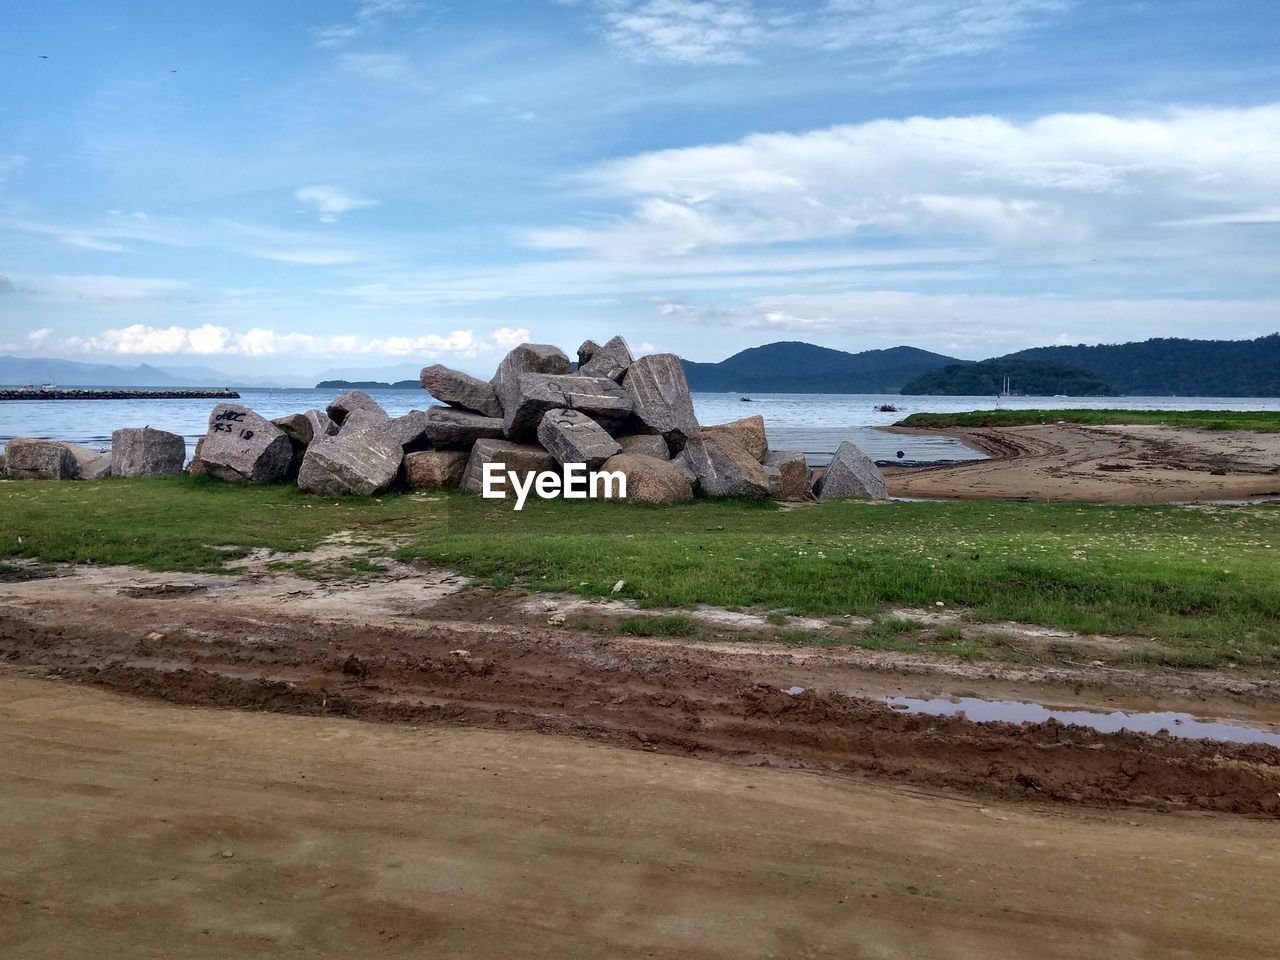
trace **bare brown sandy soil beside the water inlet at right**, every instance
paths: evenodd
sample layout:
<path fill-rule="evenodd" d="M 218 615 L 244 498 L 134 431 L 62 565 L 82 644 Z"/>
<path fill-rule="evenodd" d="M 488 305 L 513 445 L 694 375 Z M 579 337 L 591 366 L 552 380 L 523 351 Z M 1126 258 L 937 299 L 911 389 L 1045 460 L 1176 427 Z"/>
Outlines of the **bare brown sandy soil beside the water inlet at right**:
<path fill-rule="evenodd" d="M 1280 497 L 1280 434 L 1169 426 L 965 428 L 991 460 L 884 470 L 895 497 L 1170 503 Z"/>

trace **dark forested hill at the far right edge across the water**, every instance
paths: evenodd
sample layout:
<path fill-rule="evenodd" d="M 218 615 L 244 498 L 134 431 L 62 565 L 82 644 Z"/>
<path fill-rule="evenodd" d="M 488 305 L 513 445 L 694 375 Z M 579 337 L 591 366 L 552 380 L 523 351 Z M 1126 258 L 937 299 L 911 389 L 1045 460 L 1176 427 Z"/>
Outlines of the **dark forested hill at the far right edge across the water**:
<path fill-rule="evenodd" d="M 1160 338 L 1097 347 L 1033 347 L 1001 360 L 1087 370 L 1130 397 L 1280 397 L 1280 334 L 1256 340 Z"/>

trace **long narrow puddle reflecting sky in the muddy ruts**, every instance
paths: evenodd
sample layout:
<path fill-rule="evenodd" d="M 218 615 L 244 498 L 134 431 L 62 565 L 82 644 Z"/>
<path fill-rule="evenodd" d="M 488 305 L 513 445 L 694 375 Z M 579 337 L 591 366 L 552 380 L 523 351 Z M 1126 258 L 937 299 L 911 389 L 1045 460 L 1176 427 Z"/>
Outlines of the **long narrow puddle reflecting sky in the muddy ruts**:
<path fill-rule="evenodd" d="M 1133 733 L 1158 733 L 1167 731 L 1170 736 L 1187 740 L 1224 740 L 1233 744 L 1267 744 L 1280 746 L 1280 733 L 1253 727 L 1240 727 L 1234 723 L 1217 723 L 1196 719 L 1189 713 L 1096 713 L 1093 710 L 1060 710 L 1042 707 L 1038 703 L 1021 700 L 980 700 L 974 696 L 956 699 L 936 698 L 922 700 L 914 696 L 886 696 L 884 703 L 908 713 L 924 713 L 934 717 L 954 717 L 963 714 L 978 723 L 1002 721 L 1005 723 L 1043 723 L 1056 719 L 1075 727 L 1089 727 L 1100 733 L 1117 733 L 1121 730 Z"/>

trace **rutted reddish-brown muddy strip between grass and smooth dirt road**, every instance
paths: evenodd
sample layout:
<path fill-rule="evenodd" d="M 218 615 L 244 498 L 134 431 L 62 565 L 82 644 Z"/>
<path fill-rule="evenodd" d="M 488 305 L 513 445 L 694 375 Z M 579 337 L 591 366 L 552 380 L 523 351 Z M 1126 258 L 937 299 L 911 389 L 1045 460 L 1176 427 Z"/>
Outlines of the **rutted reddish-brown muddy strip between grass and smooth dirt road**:
<path fill-rule="evenodd" d="M 986 797 L 1280 815 L 1274 746 L 905 716 L 876 699 L 1158 704 L 1275 724 L 1280 691 L 1263 677 L 737 644 L 731 617 L 718 643 L 634 639 L 550 622 L 566 620 L 562 603 L 408 568 L 358 584 L 82 568 L 0 584 L 0 659 L 179 704 L 570 735 Z"/>

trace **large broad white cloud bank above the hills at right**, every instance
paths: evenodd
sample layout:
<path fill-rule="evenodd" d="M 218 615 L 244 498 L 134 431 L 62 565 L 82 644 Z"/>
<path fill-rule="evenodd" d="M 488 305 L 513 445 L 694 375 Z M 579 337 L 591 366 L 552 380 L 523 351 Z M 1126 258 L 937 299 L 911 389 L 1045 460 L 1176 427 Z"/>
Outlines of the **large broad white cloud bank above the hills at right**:
<path fill-rule="evenodd" d="M 874 120 L 641 154 L 580 182 L 596 196 L 630 201 L 630 214 L 535 230 L 531 246 L 680 255 L 892 234 L 1033 256 L 1153 241 L 1170 220 L 1270 216 L 1280 195 L 1280 104 L 1025 123 Z"/>

